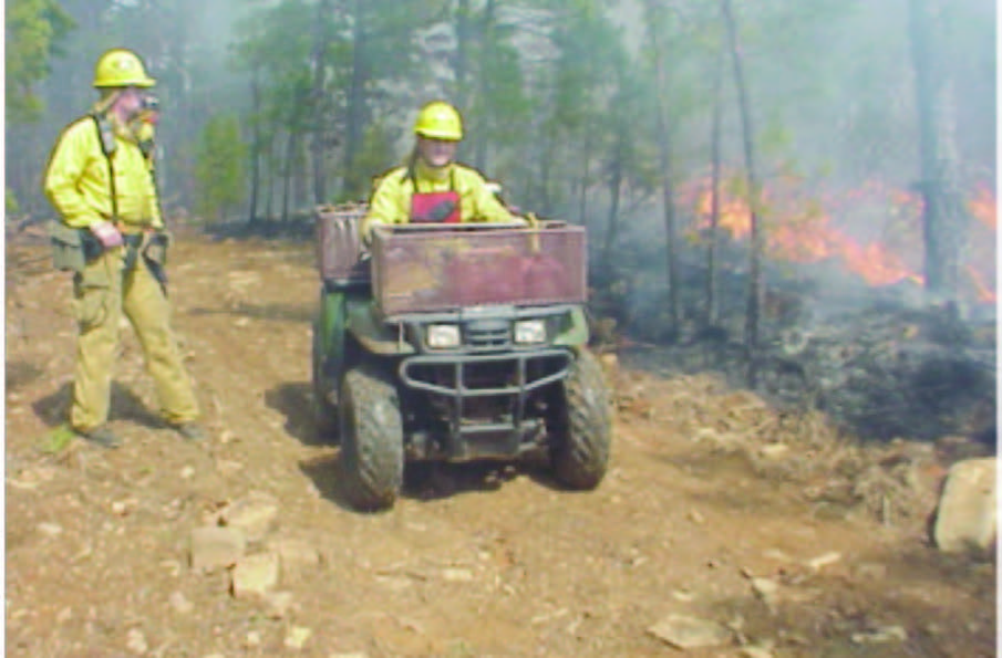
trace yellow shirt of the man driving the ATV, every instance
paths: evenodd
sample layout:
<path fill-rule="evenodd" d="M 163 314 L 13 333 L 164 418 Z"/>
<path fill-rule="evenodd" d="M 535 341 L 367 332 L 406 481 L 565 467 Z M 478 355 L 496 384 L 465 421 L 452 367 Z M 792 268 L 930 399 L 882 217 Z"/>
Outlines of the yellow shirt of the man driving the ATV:
<path fill-rule="evenodd" d="M 453 190 L 459 196 L 459 221 L 523 223 L 497 200 L 484 177 L 475 169 L 455 164 L 445 171 L 433 175 L 420 160 L 414 167 L 414 180 L 407 168 L 397 167 L 385 174 L 372 195 L 369 215 L 362 223 L 362 237 L 371 239 L 372 227 L 378 223 L 407 223 L 411 221 L 411 196 L 414 182 L 419 194 Z"/>

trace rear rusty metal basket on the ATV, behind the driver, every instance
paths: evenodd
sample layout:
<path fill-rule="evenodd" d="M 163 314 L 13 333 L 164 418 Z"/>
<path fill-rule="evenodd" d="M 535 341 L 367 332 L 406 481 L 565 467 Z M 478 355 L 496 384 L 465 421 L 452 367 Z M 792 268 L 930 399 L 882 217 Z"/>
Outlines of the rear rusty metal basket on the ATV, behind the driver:
<path fill-rule="evenodd" d="M 320 206 L 316 211 L 317 265 L 320 278 L 338 284 L 368 283 L 360 224 L 365 206 Z"/>

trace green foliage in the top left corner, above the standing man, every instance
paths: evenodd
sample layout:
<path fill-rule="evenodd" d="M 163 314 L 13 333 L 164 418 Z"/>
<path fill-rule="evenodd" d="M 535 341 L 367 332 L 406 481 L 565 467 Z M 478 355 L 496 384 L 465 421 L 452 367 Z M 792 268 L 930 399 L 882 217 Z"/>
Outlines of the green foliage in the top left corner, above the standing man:
<path fill-rule="evenodd" d="M 59 42 L 73 20 L 55 0 L 10 0 L 6 6 L 7 121 L 27 124 L 44 109 L 35 86 L 51 72 Z"/>

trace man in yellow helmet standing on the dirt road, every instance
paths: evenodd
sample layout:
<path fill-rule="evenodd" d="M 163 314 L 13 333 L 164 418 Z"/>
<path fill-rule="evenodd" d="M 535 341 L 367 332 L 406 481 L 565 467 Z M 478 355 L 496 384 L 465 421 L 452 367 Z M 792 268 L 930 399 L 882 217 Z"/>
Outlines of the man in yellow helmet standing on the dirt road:
<path fill-rule="evenodd" d="M 52 228 L 53 261 L 74 272 L 79 334 L 69 427 L 109 448 L 120 445 L 106 421 L 123 313 L 143 347 L 164 419 L 189 440 L 205 438 L 171 331 L 164 272 L 168 236 L 152 152 L 147 158 L 140 145 L 141 137 L 152 144 L 154 84 L 132 51 L 105 52 L 94 69 L 101 100 L 60 135 L 44 179 L 45 194 L 62 216 Z"/>

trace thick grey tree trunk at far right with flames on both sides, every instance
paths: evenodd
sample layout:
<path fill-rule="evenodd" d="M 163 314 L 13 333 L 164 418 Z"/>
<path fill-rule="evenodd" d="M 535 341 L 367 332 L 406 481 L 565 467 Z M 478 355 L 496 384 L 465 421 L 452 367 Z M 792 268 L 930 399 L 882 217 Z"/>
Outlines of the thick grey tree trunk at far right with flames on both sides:
<path fill-rule="evenodd" d="M 953 85 L 939 52 L 941 9 L 937 0 L 910 0 L 909 36 L 919 128 L 926 291 L 930 303 L 955 310 L 960 252 L 968 227 L 958 180 Z"/>

